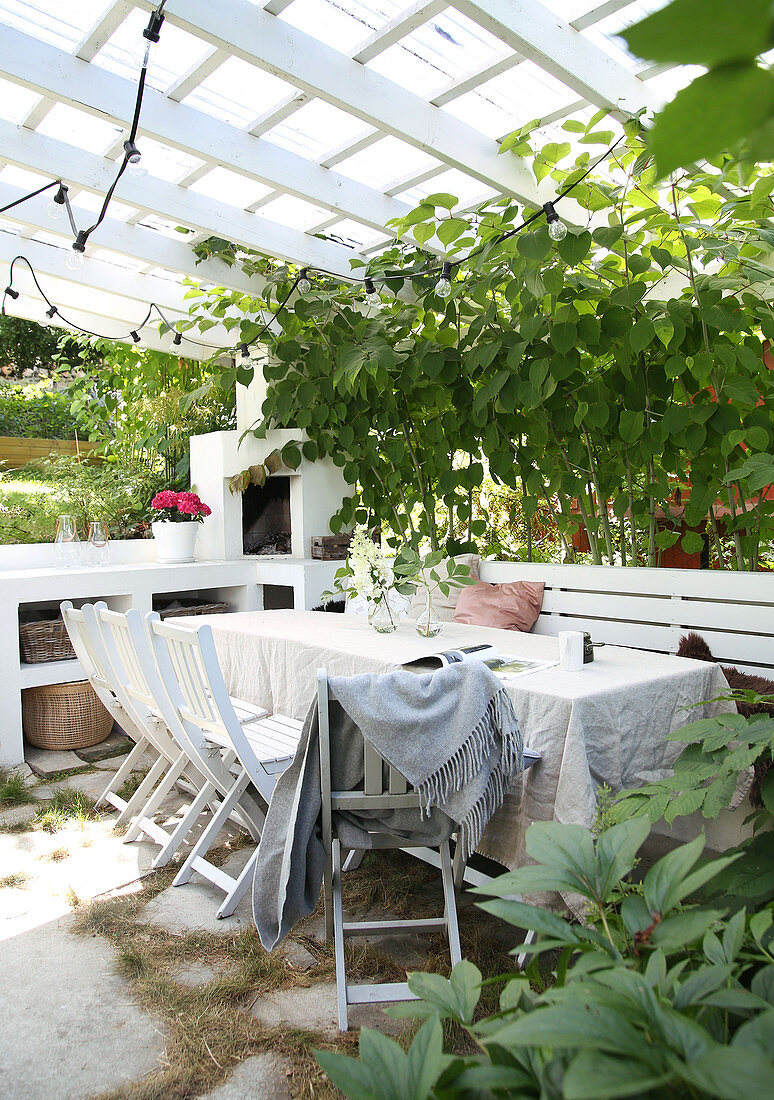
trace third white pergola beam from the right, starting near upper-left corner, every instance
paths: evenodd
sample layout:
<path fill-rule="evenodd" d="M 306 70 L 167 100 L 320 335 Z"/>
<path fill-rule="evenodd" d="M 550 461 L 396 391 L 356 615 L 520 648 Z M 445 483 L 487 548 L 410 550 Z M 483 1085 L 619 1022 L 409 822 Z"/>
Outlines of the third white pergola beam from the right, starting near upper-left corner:
<path fill-rule="evenodd" d="M 134 85 L 64 54 L 21 32 L 3 28 L 2 73 L 22 87 L 51 96 L 97 118 L 128 125 Z M 272 142 L 174 102 L 147 88 L 141 131 L 158 141 L 223 165 L 325 209 L 354 217 L 374 229 L 400 218 L 408 207 L 382 193 L 307 161 Z"/>

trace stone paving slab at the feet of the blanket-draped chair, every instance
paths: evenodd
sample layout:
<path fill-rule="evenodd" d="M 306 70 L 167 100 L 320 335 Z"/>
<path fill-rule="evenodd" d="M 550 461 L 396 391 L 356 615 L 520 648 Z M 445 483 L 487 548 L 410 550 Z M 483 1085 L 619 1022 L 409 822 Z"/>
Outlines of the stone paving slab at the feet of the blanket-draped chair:
<path fill-rule="evenodd" d="M 267 993 L 255 1002 L 250 1012 L 264 1027 L 289 1024 L 291 1027 L 308 1027 L 333 1036 L 339 1034 L 336 1004 L 336 983 L 325 981 L 307 989 L 278 989 L 274 993 Z M 385 1007 L 351 1004 L 350 1027 L 372 1027 L 386 1035 L 397 1035 L 406 1021 L 385 1015 Z"/>

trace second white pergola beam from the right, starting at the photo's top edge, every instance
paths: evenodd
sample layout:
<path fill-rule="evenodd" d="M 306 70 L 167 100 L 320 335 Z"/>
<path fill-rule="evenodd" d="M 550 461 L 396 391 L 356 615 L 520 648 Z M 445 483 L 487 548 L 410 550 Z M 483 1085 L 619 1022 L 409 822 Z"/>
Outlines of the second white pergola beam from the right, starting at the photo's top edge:
<path fill-rule="evenodd" d="M 170 23 L 325 99 L 387 134 L 431 153 L 495 190 L 537 202 L 531 169 L 473 127 L 248 0 L 168 0 Z"/>

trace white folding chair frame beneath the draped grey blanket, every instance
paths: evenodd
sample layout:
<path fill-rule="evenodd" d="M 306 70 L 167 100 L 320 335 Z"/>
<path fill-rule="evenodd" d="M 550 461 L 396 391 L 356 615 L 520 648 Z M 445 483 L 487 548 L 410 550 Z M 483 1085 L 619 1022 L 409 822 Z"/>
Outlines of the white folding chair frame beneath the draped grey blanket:
<path fill-rule="evenodd" d="M 335 811 L 374 811 L 420 809 L 419 794 L 409 790 L 406 778 L 386 761 L 366 740 L 363 741 L 363 789 L 358 791 L 331 790 L 331 725 L 329 710 L 328 673 L 318 670 L 318 722 L 320 727 L 320 782 L 322 788 L 322 843 L 325 854 L 323 897 L 325 902 L 325 935 L 333 939 L 336 964 L 336 997 L 339 1001 L 339 1030 L 346 1031 L 350 1004 L 416 1000 L 406 982 L 380 985 L 349 985 L 344 959 L 344 941 L 347 936 L 403 935 L 407 932 L 438 932 L 443 928 L 449 939 L 452 966 L 462 959 L 457 926 L 454 878 L 449 840 L 439 845 L 441 880 L 443 884 L 443 916 L 408 921 L 344 921 L 341 890 L 342 848 L 336 835 Z M 388 779 L 384 773 L 387 767 Z M 363 826 L 366 827 L 365 825 Z M 411 848 L 405 837 L 390 833 L 371 832 L 374 848 Z M 420 847 L 417 845 L 416 847 Z"/>

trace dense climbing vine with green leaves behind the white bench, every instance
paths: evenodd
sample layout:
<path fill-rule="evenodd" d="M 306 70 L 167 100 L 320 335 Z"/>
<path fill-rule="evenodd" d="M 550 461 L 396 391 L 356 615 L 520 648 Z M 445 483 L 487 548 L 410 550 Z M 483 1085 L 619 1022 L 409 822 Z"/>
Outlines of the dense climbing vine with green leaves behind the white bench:
<path fill-rule="evenodd" d="M 380 308 L 365 308 L 358 286 L 314 276 L 265 338 L 255 435 L 300 429 L 287 464 L 342 468 L 355 490 L 333 530 L 377 521 L 396 542 L 460 549 L 484 534 L 474 498 L 490 474 L 520 491 L 528 520 L 548 509 L 565 549 L 584 528 L 594 562 L 656 564 L 681 539 L 696 552 L 706 526 L 718 564 L 759 566 L 774 535 L 761 492 L 774 443 L 774 173 L 723 155 L 656 185 L 630 120 L 580 179 L 591 151 L 611 144 L 604 119 L 565 122 L 575 145 L 533 147 L 526 127 L 502 146 L 543 187 L 576 184 L 559 207 L 564 240 L 539 220 L 502 241 L 533 212 L 510 199 L 471 213 L 431 195 L 358 271 L 384 285 Z M 449 298 L 435 275 L 403 274 L 432 265 L 430 250 L 461 260 Z M 236 251 L 233 261 L 266 279 L 262 293 L 192 288 L 191 320 L 215 317 L 251 339 L 291 274 Z"/>

